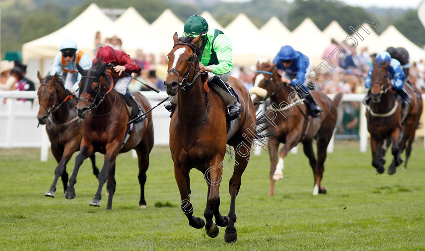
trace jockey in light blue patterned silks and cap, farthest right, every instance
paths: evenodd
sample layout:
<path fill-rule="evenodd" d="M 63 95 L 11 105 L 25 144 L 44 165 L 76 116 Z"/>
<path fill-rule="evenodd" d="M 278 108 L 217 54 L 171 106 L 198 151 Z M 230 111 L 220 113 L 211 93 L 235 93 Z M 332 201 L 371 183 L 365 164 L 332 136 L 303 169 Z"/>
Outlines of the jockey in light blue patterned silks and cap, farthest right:
<path fill-rule="evenodd" d="M 402 100 L 402 106 L 406 107 L 409 105 L 412 97 L 406 90 L 403 89 L 403 83 L 404 83 L 404 72 L 403 68 L 401 67 L 400 62 L 397 59 L 391 58 L 390 53 L 387 51 L 382 51 L 376 54 L 375 58 L 375 65 L 385 65 L 390 62 L 390 66 L 388 67 L 388 73 L 391 80 L 391 88 L 393 91 L 400 96 Z M 365 80 L 365 87 L 368 89 L 367 95 L 364 99 L 364 103 L 367 104 L 371 98 L 370 95 L 370 75 L 373 71 L 373 65 L 369 69 L 369 73 L 367 75 L 367 78 Z"/>

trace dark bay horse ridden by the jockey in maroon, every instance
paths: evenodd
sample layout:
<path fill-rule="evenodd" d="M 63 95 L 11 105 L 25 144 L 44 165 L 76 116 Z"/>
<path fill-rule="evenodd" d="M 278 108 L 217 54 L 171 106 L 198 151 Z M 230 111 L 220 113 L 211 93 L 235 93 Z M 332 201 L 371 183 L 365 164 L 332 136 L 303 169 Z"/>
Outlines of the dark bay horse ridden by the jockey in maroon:
<path fill-rule="evenodd" d="M 106 209 L 112 209 L 112 197 L 115 192 L 115 160 L 119 153 L 135 149 L 139 164 L 139 183 L 141 208 L 146 207 L 145 182 L 146 170 L 149 167 L 149 153 L 153 147 L 153 124 L 150 113 L 138 123 L 127 126 L 130 113 L 119 93 L 113 90 L 113 80 L 105 75 L 107 64 L 98 60 L 91 69 L 84 71 L 77 64 L 81 73 L 80 93 L 77 104 L 78 116 L 82 121 L 83 135 L 80 152 L 75 157 L 75 167 L 69 178 L 69 186 L 65 193 L 66 199 L 75 198 L 74 184 L 78 168 L 84 159 L 95 152 L 105 155 L 102 170 L 99 173 L 99 186 L 94 199 L 89 205 L 100 207 L 102 187 L 108 180 L 108 204 Z M 106 77 L 104 77 L 106 76 Z M 110 82 L 107 82 L 110 80 Z M 139 92 L 133 95 L 142 109 L 151 108 L 149 101 Z M 130 130 L 132 128 L 132 130 Z M 127 135 L 127 132 L 130 132 Z M 124 138 L 126 139 L 124 141 Z M 124 144 L 125 143 L 125 144 Z"/>

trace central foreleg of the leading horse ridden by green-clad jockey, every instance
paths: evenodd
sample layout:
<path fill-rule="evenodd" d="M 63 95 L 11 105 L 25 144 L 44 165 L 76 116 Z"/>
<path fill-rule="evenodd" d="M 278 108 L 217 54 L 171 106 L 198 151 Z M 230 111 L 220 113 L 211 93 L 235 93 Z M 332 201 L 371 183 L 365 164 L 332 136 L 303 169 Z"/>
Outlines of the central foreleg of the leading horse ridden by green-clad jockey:
<path fill-rule="evenodd" d="M 222 216 L 219 211 L 220 207 L 220 183 L 223 179 L 223 156 L 217 155 L 210 163 L 209 168 L 204 177 L 208 183 L 208 198 L 206 200 L 206 208 L 204 211 L 205 230 L 209 237 L 216 237 L 219 234 L 217 226 L 225 227 L 229 224 L 229 218 Z M 212 221 L 215 216 L 216 222 Z"/>

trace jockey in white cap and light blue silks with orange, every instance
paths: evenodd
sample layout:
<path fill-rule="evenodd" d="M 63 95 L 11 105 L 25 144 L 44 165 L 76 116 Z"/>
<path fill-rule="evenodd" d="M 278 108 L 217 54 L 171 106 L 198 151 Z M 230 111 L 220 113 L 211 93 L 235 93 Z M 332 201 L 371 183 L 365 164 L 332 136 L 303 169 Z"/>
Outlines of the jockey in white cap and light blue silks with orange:
<path fill-rule="evenodd" d="M 78 64 L 83 70 L 88 70 L 92 67 L 92 60 L 86 52 L 78 50 L 77 44 L 70 38 L 62 41 L 59 50 L 49 75 L 63 76 L 65 89 L 71 93 L 76 93 L 75 95 L 78 96 L 78 83 L 81 80 L 81 74 L 78 73 L 75 65 Z"/>

